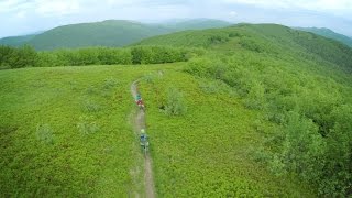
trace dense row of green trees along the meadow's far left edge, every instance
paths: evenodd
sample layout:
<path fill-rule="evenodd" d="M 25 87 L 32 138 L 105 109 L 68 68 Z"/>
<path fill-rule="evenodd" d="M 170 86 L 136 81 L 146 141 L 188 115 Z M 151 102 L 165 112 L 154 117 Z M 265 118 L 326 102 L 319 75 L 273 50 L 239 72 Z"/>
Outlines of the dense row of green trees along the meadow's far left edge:
<path fill-rule="evenodd" d="M 131 65 L 185 62 L 199 50 L 167 46 L 134 46 L 129 48 L 88 47 L 36 52 L 33 47 L 0 46 L 1 68 L 54 67 L 84 65 Z"/>

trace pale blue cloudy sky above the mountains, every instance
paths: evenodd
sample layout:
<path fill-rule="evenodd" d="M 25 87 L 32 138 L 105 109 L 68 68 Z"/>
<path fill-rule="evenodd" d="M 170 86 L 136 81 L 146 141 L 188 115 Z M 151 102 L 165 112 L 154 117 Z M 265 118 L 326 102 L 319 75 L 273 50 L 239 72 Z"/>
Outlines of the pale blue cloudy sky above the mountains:
<path fill-rule="evenodd" d="M 0 0 L 0 37 L 110 19 L 198 18 L 328 28 L 352 36 L 352 0 Z"/>

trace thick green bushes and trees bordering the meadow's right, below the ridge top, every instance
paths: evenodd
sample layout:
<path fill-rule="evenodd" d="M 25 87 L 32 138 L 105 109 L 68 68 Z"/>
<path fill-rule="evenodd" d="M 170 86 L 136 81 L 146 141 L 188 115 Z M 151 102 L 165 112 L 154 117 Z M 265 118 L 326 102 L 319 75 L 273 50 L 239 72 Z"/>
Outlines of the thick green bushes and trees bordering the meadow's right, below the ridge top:
<path fill-rule="evenodd" d="M 352 82 L 342 85 L 305 67 L 299 62 L 242 53 L 232 57 L 195 58 L 186 72 L 226 82 L 244 107 L 261 112 L 253 128 L 267 140 L 261 150 L 255 148 L 253 157 L 275 175 L 298 175 L 316 186 L 320 196 L 349 197 L 352 195 Z"/>

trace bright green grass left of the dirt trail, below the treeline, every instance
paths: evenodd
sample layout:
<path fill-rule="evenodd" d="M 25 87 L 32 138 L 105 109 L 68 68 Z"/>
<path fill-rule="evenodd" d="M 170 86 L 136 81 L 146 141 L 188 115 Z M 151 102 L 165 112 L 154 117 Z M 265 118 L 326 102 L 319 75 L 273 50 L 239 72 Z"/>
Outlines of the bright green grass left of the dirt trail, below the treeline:
<path fill-rule="evenodd" d="M 129 88 L 148 68 L 1 70 L 0 197 L 142 194 Z"/>

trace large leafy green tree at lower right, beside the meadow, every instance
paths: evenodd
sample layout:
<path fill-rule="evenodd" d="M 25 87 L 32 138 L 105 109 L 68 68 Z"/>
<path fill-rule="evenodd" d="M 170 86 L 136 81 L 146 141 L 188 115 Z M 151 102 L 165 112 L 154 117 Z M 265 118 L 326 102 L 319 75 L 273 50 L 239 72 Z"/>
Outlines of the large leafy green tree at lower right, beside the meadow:
<path fill-rule="evenodd" d="M 287 116 L 283 162 L 288 170 L 300 175 L 304 180 L 317 184 L 322 175 L 326 143 L 318 132 L 318 127 L 292 111 Z"/>

